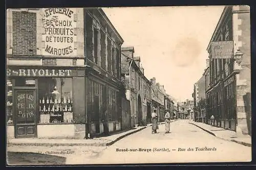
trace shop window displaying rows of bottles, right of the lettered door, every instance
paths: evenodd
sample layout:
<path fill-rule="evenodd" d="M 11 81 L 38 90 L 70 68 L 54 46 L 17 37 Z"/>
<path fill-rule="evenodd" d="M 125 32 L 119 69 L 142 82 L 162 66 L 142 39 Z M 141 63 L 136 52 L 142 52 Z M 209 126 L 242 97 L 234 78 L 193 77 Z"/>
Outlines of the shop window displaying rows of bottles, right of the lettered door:
<path fill-rule="evenodd" d="M 72 78 L 38 79 L 39 123 L 73 123 Z"/>

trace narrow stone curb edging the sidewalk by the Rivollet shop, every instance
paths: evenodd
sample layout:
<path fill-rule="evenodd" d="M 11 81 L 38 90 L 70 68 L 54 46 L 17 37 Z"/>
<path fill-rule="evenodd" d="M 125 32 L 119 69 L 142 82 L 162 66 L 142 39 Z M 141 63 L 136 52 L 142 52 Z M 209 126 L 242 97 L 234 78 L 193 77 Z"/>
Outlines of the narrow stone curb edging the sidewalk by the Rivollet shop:
<path fill-rule="evenodd" d="M 8 143 L 7 144 L 7 147 L 11 147 L 11 146 L 14 146 L 14 145 L 19 145 L 19 146 L 35 146 L 35 147 L 73 147 L 73 146 L 91 146 L 91 147 L 104 147 L 104 146 L 109 146 L 109 145 L 112 145 L 113 143 L 117 142 L 118 140 L 126 137 L 126 136 L 129 136 L 133 133 L 136 133 L 138 131 L 141 131 L 143 129 L 145 129 L 147 127 L 143 127 L 143 128 L 140 128 L 140 129 L 137 129 L 133 132 L 129 132 L 129 133 L 126 133 L 122 136 L 119 136 L 118 138 L 112 140 L 112 141 L 108 141 L 107 142 L 94 142 L 94 143 Z"/>

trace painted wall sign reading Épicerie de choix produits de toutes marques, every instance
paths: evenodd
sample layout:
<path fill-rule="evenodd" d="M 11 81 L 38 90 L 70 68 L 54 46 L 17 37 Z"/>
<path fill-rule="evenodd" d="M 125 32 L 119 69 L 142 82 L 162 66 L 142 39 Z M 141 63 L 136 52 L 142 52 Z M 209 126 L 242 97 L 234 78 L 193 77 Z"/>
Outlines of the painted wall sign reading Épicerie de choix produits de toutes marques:
<path fill-rule="evenodd" d="M 74 56 L 74 9 L 71 8 L 47 8 L 42 10 L 42 26 L 45 34 L 43 55 L 48 56 Z"/>

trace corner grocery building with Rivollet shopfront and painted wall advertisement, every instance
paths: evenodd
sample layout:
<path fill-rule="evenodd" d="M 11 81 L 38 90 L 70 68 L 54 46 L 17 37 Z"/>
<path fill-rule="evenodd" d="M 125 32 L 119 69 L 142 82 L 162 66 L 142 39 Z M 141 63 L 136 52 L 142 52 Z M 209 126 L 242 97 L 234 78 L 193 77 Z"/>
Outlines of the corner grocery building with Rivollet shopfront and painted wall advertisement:
<path fill-rule="evenodd" d="M 102 9 L 9 9 L 8 137 L 120 130 L 122 43 Z"/>

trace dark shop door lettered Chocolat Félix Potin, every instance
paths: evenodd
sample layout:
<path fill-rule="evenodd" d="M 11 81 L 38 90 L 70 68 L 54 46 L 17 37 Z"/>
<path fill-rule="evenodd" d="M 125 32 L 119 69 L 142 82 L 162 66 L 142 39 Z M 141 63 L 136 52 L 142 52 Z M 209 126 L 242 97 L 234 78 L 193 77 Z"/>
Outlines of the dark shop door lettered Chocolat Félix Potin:
<path fill-rule="evenodd" d="M 15 96 L 15 138 L 36 137 L 36 91 L 16 89 Z"/>

